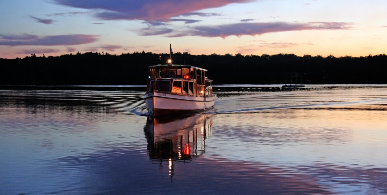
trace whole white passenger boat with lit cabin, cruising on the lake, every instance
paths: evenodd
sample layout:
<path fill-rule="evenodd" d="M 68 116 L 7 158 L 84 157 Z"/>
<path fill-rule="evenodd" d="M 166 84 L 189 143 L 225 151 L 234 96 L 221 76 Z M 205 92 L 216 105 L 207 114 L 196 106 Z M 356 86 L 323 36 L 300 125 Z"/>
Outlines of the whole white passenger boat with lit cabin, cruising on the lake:
<path fill-rule="evenodd" d="M 149 66 L 144 100 L 148 115 L 182 115 L 199 113 L 214 107 L 216 94 L 206 69 L 191 65 L 166 64 Z"/>

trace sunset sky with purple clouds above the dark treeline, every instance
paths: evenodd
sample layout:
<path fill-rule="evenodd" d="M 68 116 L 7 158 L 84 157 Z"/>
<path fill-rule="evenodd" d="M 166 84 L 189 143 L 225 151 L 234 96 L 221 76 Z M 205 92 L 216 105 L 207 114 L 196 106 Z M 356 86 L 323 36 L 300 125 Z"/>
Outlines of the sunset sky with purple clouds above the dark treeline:
<path fill-rule="evenodd" d="M 386 0 L 0 0 L 0 58 L 387 53 Z"/>

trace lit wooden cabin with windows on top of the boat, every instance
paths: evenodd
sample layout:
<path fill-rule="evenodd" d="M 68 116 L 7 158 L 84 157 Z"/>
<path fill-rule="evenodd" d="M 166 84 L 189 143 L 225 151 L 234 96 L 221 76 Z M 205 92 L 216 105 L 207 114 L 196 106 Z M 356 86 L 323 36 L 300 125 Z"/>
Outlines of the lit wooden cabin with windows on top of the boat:
<path fill-rule="evenodd" d="M 187 96 L 214 96 L 212 80 L 205 77 L 207 70 L 189 65 L 149 66 L 147 91 L 159 91 Z"/>

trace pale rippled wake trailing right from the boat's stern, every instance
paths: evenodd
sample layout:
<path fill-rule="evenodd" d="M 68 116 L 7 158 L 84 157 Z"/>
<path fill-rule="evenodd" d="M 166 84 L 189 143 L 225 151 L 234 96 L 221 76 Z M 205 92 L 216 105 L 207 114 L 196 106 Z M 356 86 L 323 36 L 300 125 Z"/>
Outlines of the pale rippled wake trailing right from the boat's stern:
<path fill-rule="evenodd" d="M 326 94 L 317 94 L 315 101 L 305 102 L 305 94 L 265 94 L 264 96 L 246 96 L 219 98 L 215 108 L 205 114 L 246 113 L 277 109 L 367 109 L 387 110 L 387 98 L 381 97 L 335 97 L 326 99 Z"/>

